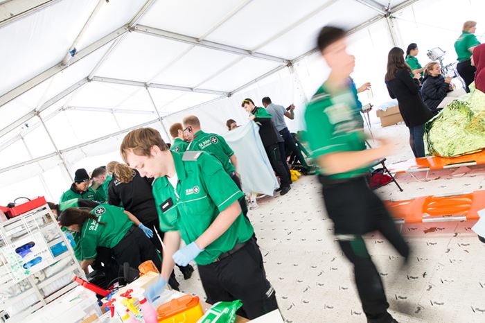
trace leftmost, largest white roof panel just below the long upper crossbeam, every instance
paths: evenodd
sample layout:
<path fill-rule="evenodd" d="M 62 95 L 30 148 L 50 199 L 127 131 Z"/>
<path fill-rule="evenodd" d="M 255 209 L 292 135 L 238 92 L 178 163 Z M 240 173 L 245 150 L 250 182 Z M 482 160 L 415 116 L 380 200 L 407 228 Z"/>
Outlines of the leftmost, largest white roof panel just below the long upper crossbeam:
<path fill-rule="evenodd" d="M 96 72 L 96 76 L 148 82 L 191 45 L 142 33 L 130 33 Z"/>

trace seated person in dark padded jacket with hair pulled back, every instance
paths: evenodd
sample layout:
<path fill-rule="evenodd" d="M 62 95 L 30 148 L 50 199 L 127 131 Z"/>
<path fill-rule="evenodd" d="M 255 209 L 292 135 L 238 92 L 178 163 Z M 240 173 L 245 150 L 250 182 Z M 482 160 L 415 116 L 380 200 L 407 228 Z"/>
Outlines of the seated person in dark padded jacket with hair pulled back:
<path fill-rule="evenodd" d="M 425 78 L 421 87 L 421 97 L 433 114 L 437 114 L 439 104 L 446 98 L 446 94 L 451 91 L 451 78 L 443 78 L 441 66 L 437 62 L 430 62 L 425 66 Z"/>

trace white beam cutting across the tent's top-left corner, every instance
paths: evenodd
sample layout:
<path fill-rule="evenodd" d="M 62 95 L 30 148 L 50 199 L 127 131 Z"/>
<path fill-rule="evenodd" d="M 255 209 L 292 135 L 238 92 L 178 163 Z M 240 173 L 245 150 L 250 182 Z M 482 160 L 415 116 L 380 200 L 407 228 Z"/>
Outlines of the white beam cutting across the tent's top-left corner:
<path fill-rule="evenodd" d="M 62 0 L 17 0 L 0 4 L 0 28 L 14 21 L 33 15 Z"/>

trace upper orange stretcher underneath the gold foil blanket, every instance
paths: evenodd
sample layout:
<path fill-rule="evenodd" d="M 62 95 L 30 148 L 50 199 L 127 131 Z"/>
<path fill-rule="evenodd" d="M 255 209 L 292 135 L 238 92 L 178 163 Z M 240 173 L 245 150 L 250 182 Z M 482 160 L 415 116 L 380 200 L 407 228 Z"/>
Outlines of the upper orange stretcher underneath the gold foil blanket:
<path fill-rule="evenodd" d="M 485 150 L 459 157 L 422 157 L 409 159 L 389 166 L 389 171 L 399 173 L 413 173 L 416 171 L 435 171 L 444 168 L 457 168 L 461 166 L 474 166 L 485 164 Z"/>

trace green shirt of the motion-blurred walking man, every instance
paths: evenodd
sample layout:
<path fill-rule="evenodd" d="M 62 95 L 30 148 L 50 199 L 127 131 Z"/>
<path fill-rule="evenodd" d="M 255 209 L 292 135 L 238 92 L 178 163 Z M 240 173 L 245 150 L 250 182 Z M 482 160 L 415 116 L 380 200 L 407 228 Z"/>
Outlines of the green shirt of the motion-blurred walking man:
<path fill-rule="evenodd" d="M 365 134 L 358 128 L 358 119 L 353 113 L 355 98 L 350 89 L 330 96 L 324 85 L 319 87 L 306 107 L 305 121 L 312 157 L 331 152 L 359 151 L 365 149 Z M 369 167 L 346 173 L 328 175 L 335 179 L 357 177 L 369 171 Z M 325 169 L 320 173 L 326 175 Z"/>

